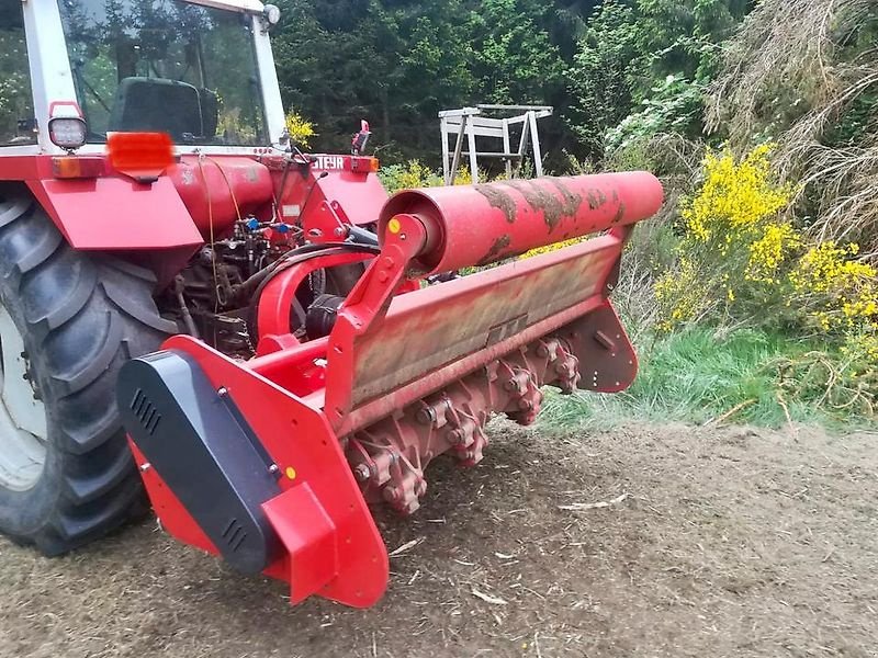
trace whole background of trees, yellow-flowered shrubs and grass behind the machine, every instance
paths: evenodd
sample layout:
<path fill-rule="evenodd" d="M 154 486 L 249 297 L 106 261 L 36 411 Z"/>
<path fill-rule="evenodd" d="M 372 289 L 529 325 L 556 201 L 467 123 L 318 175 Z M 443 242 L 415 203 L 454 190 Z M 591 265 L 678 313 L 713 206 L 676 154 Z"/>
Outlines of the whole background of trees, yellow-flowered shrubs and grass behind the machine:
<path fill-rule="evenodd" d="M 441 184 L 437 113 L 475 103 L 554 106 L 541 132 L 553 173 L 663 179 L 668 202 L 637 232 L 616 293 L 641 376 L 621 396 L 552 398 L 550 422 L 874 424 L 876 3 L 282 9 L 275 54 L 293 132 L 338 150 L 368 118 L 391 191 Z"/>

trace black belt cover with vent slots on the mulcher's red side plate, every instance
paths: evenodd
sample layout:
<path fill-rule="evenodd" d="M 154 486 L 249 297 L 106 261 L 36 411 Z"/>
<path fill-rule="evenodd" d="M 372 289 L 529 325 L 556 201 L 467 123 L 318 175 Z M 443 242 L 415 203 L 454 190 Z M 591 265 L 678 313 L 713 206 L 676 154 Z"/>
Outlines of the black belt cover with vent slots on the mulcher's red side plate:
<path fill-rule="evenodd" d="M 116 394 L 132 440 L 223 557 L 246 574 L 264 570 L 280 542 L 261 504 L 281 490 L 230 397 L 176 351 L 126 363 Z"/>

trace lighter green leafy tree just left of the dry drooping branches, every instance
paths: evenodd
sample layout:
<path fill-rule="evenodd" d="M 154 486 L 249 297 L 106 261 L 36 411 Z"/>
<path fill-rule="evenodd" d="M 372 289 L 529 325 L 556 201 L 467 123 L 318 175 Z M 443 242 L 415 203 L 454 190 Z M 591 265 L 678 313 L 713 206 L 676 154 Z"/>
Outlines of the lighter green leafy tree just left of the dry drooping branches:
<path fill-rule="evenodd" d="M 565 118 L 581 144 L 599 158 L 660 132 L 700 135 L 718 44 L 748 10 L 742 0 L 605 0 L 567 72 Z"/>

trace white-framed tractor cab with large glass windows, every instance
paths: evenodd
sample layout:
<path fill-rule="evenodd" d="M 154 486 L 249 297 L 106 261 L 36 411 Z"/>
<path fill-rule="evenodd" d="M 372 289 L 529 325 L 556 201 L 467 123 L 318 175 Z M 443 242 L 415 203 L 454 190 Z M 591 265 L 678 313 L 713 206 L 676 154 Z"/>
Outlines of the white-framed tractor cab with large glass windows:
<path fill-rule="evenodd" d="M 23 14 L 22 14 L 23 8 Z M 0 10 L 0 146 L 103 149 L 156 132 L 183 152 L 281 146 L 257 0 L 29 0 Z"/>

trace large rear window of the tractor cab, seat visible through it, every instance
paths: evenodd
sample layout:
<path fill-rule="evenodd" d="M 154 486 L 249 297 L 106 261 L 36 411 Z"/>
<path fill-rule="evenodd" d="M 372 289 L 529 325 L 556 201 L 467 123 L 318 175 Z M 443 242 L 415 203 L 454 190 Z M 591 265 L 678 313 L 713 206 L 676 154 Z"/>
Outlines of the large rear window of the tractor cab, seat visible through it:
<path fill-rule="evenodd" d="M 91 143 L 266 145 L 252 19 L 182 0 L 65 0 L 70 69 Z"/>

